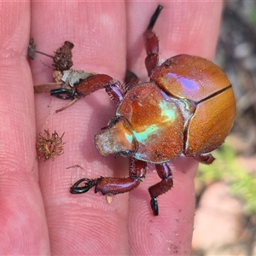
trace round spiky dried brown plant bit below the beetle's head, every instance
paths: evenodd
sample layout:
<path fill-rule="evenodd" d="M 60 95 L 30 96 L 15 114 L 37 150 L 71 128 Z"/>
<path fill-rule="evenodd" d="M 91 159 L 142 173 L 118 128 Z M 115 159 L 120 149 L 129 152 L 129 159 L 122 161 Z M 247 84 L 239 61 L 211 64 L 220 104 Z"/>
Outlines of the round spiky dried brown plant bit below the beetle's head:
<path fill-rule="evenodd" d="M 63 154 L 63 143 L 62 137 L 58 135 L 56 131 L 52 134 L 49 134 L 49 130 L 44 130 L 44 135 L 39 134 L 38 141 L 36 144 L 36 148 L 38 150 L 38 160 L 54 160 L 56 156 Z"/>

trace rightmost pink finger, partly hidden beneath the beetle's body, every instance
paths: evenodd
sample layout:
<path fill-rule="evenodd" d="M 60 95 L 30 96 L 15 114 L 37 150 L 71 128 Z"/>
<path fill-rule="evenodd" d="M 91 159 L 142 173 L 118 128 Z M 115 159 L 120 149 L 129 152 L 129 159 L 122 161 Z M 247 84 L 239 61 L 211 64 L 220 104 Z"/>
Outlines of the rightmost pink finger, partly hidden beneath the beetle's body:
<path fill-rule="evenodd" d="M 164 9 L 154 26 L 160 40 L 160 59 L 179 54 L 211 59 L 217 41 L 221 5 L 219 2 L 163 3 Z M 156 6 L 157 3 L 149 6 L 148 3 L 127 3 L 128 68 L 143 79 L 147 75 L 142 34 Z M 182 158 L 172 161 L 170 166 L 174 185 L 171 191 L 159 197 L 160 216 L 154 217 L 150 212 L 147 191 L 149 186 L 159 182 L 156 173 L 148 172 L 145 182 L 130 193 L 131 254 L 190 254 L 195 211 L 193 178 L 197 163 Z"/>

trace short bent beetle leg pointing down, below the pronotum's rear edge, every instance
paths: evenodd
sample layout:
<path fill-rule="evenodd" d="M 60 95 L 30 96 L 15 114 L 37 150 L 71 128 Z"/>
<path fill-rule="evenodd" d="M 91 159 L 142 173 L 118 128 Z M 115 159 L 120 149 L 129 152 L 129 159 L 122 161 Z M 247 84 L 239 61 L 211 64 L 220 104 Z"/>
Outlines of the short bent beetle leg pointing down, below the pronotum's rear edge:
<path fill-rule="evenodd" d="M 155 216 L 158 215 L 158 204 L 157 196 L 166 193 L 168 190 L 172 189 L 173 179 L 171 168 L 166 164 L 155 165 L 158 176 L 162 179 L 160 183 L 156 183 L 151 186 L 148 191 L 151 196 L 150 205 Z"/>

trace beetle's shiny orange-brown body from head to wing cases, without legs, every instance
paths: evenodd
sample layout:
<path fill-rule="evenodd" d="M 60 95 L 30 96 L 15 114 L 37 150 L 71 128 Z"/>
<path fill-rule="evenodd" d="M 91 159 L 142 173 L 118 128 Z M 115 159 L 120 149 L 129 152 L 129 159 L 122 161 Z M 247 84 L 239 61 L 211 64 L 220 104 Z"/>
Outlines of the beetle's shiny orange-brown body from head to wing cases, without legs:
<path fill-rule="evenodd" d="M 156 67 L 150 82 L 125 94 L 108 131 L 96 135 L 102 155 L 163 163 L 211 152 L 224 143 L 236 113 L 229 79 L 211 61 L 177 55 Z"/>

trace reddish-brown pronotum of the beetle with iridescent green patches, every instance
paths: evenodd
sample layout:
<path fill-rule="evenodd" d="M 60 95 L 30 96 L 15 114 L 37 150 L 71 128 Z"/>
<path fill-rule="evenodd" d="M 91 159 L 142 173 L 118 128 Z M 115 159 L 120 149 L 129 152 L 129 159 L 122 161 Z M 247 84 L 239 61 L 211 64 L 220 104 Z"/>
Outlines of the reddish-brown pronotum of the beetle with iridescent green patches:
<path fill-rule="evenodd" d="M 125 118 L 130 124 L 137 142 L 134 156 L 138 160 L 160 163 L 181 154 L 183 114 L 177 102 L 156 84 L 143 83 L 129 90 L 116 116 Z M 162 153 L 159 148 L 163 148 Z"/>

